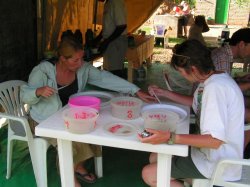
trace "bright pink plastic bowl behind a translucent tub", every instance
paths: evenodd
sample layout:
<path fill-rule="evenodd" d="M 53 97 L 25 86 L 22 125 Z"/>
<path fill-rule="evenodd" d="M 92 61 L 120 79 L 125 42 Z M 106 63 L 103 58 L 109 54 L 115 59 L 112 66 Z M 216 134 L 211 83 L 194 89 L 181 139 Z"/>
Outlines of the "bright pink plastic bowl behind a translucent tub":
<path fill-rule="evenodd" d="M 72 108 L 86 106 L 86 107 L 95 108 L 96 110 L 99 111 L 101 100 L 97 97 L 80 95 L 80 96 L 69 98 L 68 104 Z"/>

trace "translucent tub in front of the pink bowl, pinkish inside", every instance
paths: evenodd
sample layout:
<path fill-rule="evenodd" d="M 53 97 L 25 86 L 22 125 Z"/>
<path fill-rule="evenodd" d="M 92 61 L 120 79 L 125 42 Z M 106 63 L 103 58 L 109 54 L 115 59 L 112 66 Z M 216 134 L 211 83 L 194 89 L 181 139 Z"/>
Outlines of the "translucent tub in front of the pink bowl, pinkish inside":
<path fill-rule="evenodd" d="M 76 134 L 86 134 L 96 127 L 99 113 L 90 107 L 67 108 L 62 113 L 67 131 Z"/>

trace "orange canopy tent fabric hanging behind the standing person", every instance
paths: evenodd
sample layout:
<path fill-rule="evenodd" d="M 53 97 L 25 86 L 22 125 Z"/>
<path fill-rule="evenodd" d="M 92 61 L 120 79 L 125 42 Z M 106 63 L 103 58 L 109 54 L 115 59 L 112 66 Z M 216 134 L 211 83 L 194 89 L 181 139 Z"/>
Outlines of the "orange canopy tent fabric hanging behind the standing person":
<path fill-rule="evenodd" d="M 128 32 L 133 32 L 142 25 L 163 2 L 163 0 L 124 1 L 127 8 Z M 84 39 L 86 30 L 94 29 L 95 21 L 101 25 L 104 4 L 97 2 L 98 0 L 40 0 L 38 3 L 38 43 L 41 44 L 38 46 L 39 51 L 55 49 L 65 30 L 80 29 Z"/>

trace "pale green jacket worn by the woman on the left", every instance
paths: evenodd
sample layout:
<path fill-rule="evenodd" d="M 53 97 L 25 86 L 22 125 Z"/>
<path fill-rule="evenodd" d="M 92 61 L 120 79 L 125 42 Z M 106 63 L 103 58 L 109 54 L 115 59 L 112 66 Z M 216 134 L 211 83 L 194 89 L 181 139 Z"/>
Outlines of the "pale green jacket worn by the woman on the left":
<path fill-rule="evenodd" d="M 86 62 L 77 71 L 77 80 L 78 92 L 84 91 L 87 83 L 132 95 L 139 90 L 134 84 L 107 71 L 101 71 Z M 48 61 L 43 61 L 34 67 L 29 76 L 28 85 L 21 87 L 21 99 L 24 103 L 30 105 L 30 115 L 38 123 L 62 108 L 62 102 L 58 94 L 54 94 L 49 98 L 36 96 L 36 89 L 43 86 L 58 89 L 55 65 Z"/>

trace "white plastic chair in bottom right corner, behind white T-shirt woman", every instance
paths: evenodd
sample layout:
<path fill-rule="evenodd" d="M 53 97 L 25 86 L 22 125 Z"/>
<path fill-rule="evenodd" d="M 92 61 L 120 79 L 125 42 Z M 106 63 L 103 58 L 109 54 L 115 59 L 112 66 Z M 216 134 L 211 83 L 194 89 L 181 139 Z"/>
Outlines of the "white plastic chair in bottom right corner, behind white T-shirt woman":
<path fill-rule="evenodd" d="M 222 174 L 227 165 L 242 165 L 242 176 L 239 181 L 224 181 Z M 211 179 L 193 179 L 192 187 L 213 187 L 213 185 L 224 187 L 250 187 L 250 159 L 222 159 L 211 177 Z"/>

